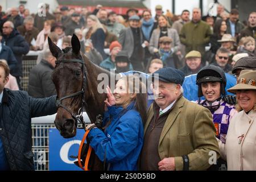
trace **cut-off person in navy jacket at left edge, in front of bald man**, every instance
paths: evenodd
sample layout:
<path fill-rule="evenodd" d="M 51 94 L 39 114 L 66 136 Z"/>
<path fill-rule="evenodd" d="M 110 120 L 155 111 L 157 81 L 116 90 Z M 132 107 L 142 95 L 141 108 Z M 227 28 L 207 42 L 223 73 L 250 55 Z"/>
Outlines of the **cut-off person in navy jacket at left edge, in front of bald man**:
<path fill-rule="evenodd" d="M 8 46 L 5 46 L 1 43 L 2 36 L 0 35 L 0 59 L 4 59 L 7 61 L 7 64 L 10 68 L 10 72 L 12 73 L 16 67 L 17 60 L 13 54 L 13 51 Z"/>

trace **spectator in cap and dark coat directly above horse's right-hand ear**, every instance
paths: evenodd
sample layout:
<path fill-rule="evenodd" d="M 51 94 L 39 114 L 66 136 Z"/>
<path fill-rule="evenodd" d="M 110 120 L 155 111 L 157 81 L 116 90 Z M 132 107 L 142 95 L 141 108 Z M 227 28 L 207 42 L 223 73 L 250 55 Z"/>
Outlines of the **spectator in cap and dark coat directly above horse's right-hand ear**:
<path fill-rule="evenodd" d="M 66 35 L 73 35 L 76 28 L 82 28 L 82 23 L 80 22 L 80 14 L 73 13 L 71 15 L 71 21 L 67 24 L 65 34 Z"/>

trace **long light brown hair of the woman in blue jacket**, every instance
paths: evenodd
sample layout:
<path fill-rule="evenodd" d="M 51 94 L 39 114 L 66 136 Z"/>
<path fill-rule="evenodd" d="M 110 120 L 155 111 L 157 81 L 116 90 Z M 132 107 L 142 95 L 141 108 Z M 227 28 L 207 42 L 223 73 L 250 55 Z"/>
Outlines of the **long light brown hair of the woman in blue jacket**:
<path fill-rule="evenodd" d="M 129 93 L 136 93 L 134 98 L 135 108 L 139 112 L 142 118 L 143 125 L 147 119 L 147 88 L 146 85 L 141 81 L 140 77 L 135 75 L 123 76 L 129 88 Z"/>

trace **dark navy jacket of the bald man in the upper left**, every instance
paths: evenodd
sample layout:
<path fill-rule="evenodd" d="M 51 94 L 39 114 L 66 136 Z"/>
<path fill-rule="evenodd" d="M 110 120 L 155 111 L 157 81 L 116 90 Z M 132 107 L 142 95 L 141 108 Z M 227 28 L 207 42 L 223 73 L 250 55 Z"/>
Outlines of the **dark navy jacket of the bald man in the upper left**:
<path fill-rule="evenodd" d="M 30 51 L 30 46 L 19 32 L 14 29 L 9 36 L 3 35 L 2 43 L 11 48 L 18 64 L 13 71 L 13 76 L 22 76 L 22 56 Z"/>

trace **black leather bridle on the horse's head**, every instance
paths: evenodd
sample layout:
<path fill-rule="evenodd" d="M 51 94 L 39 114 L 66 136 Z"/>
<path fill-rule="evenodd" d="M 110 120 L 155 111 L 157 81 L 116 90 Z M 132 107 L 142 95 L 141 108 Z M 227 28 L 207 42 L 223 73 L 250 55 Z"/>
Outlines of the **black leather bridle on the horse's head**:
<path fill-rule="evenodd" d="M 56 60 L 55 61 L 55 64 L 60 64 L 60 63 L 81 63 L 82 64 L 82 90 L 79 91 L 79 92 L 76 92 L 76 93 L 72 93 L 68 96 L 64 96 L 62 98 L 60 98 L 60 100 L 57 100 L 56 101 L 56 106 L 57 108 L 59 107 L 62 107 L 63 109 L 67 110 L 69 114 L 72 115 L 72 118 L 75 119 L 76 121 L 76 127 L 77 127 L 77 123 L 80 122 L 82 124 L 82 127 L 83 129 L 85 129 L 85 122 L 84 122 L 84 118 L 82 118 L 82 108 L 86 106 L 86 102 L 85 102 L 85 90 L 86 90 L 86 87 L 87 87 L 87 80 L 86 80 L 86 73 L 87 73 L 87 70 L 86 70 L 86 67 L 85 67 L 85 64 L 84 64 L 84 61 L 83 60 L 80 60 L 80 59 L 64 59 L 64 60 Z M 74 113 L 68 109 L 66 106 L 64 106 L 62 104 L 62 101 L 66 98 L 72 98 L 72 97 L 76 97 L 76 96 L 79 96 L 80 94 L 82 94 L 82 102 L 81 102 L 81 107 L 78 111 L 78 115 L 74 115 Z"/>

